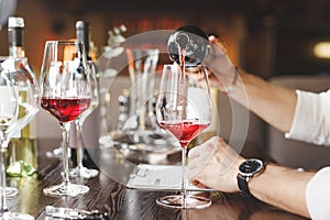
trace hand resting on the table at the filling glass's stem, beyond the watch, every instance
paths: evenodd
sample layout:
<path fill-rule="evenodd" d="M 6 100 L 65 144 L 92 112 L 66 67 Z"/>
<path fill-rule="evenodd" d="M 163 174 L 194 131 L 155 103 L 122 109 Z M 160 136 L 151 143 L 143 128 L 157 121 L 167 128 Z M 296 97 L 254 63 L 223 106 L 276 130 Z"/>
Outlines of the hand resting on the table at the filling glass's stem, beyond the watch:
<path fill-rule="evenodd" d="M 212 138 L 189 151 L 187 174 L 198 187 L 239 191 L 237 175 L 244 161 L 221 138 Z"/>

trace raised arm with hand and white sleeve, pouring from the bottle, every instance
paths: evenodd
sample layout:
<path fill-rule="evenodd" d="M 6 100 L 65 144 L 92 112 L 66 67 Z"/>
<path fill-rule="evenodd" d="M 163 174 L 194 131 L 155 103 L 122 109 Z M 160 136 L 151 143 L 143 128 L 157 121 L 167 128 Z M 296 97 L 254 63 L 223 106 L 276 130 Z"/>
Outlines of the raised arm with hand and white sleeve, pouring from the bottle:
<path fill-rule="evenodd" d="M 227 92 L 286 138 L 330 145 L 330 90 L 314 94 L 275 86 L 234 67 L 223 45 L 210 36 L 206 65 L 210 86 Z M 230 90 L 233 88 L 232 90 Z"/>

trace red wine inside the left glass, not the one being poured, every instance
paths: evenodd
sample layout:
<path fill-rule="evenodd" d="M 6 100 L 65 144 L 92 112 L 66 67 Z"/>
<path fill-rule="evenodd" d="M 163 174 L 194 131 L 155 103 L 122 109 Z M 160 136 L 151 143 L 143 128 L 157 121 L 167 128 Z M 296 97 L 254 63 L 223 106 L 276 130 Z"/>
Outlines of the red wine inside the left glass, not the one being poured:
<path fill-rule="evenodd" d="M 46 98 L 41 106 L 56 117 L 61 123 L 75 120 L 82 111 L 89 108 L 90 98 Z"/>

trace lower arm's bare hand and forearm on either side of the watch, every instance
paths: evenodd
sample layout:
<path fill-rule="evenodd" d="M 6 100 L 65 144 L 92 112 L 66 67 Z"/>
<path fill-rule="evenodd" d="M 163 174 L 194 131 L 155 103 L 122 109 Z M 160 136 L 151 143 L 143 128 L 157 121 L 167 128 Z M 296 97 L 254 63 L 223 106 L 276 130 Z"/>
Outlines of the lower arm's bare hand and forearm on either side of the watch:
<path fill-rule="evenodd" d="M 222 139 L 212 138 L 189 152 L 188 178 L 199 187 L 237 193 L 237 175 L 243 161 Z M 251 179 L 249 187 L 260 200 L 309 217 L 305 194 L 314 175 L 268 164 L 262 174 Z"/>

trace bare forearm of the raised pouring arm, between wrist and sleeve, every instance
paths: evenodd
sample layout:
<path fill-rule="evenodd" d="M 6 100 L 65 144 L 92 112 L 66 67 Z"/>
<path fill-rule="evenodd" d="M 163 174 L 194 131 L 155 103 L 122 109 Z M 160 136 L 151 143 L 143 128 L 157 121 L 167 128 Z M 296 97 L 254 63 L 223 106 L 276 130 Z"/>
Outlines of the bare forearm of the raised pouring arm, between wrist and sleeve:
<path fill-rule="evenodd" d="M 297 102 L 294 90 L 240 70 L 235 90 L 229 95 L 274 128 L 282 132 L 289 131 Z"/>

